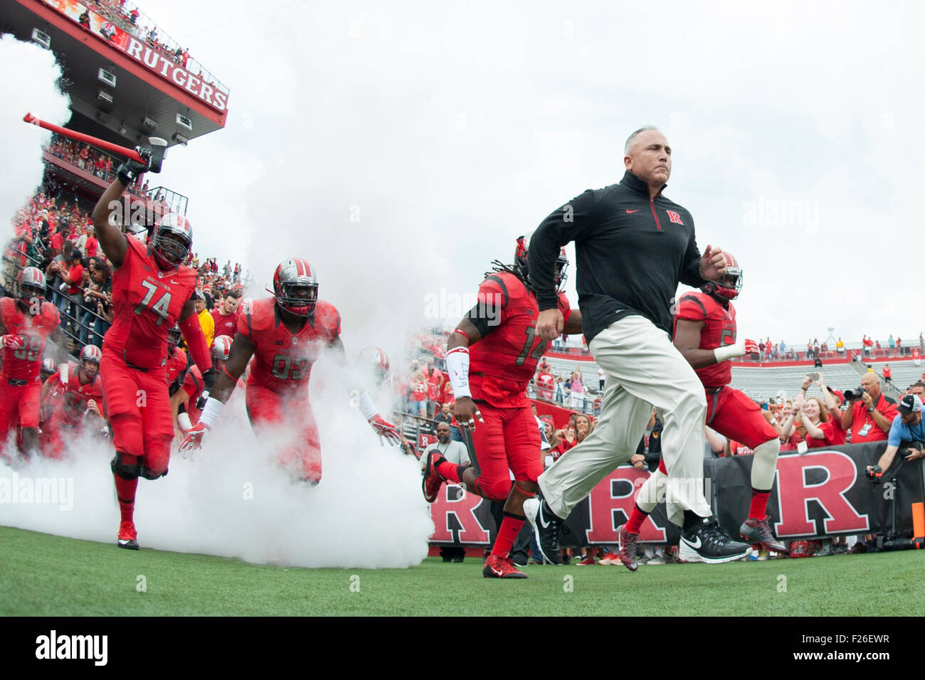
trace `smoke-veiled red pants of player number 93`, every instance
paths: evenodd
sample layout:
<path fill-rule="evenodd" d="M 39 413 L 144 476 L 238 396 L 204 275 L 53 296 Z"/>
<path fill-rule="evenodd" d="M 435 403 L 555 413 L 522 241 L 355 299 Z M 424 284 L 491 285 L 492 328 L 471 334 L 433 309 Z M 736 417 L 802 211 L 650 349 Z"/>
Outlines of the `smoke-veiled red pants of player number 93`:
<path fill-rule="evenodd" d="M 279 437 L 282 428 L 290 429 L 290 440 L 277 453 L 279 464 L 300 479 L 320 482 L 321 440 L 318 438 L 312 405 L 308 402 L 308 391 L 279 394 L 249 382 L 244 396 L 247 415 L 258 439 L 264 436 Z"/>

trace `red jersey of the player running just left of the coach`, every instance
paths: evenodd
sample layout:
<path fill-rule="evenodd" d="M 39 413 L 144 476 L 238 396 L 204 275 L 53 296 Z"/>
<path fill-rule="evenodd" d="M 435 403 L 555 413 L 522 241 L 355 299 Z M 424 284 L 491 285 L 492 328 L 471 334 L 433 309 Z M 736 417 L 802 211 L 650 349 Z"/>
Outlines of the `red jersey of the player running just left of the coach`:
<path fill-rule="evenodd" d="M 469 347 L 472 397 L 493 406 L 524 406 L 536 362 L 549 344 L 536 335 L 536 297 L 520 278 L 499 272 L 478 287 L 478 304 L 491 316 L 489 332 Z M 568 321 L 571 309 L 564 293 L 559 294 L 559 311 Z"/>

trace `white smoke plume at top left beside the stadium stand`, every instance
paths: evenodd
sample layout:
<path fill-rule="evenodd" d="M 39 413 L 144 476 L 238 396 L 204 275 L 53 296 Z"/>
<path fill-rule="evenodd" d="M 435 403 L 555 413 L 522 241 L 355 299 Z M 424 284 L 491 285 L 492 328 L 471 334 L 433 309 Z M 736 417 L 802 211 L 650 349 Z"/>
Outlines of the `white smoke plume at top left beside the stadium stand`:
<path fill-rule="evenodd" d="M 0 130 L 4 130 L 4 162 L 0 163 L 0 215 L 12 219 L 42 183 L 42 145 L 52 133 L 22 121 L 31 113 L 56 125 L 70 118 L 70 100 L 56 86 L 61 67 L 51 51 L 23 43 L 11 35 L 0 37 Z M 5 227 L 4 240 L 12 235 Z"/>

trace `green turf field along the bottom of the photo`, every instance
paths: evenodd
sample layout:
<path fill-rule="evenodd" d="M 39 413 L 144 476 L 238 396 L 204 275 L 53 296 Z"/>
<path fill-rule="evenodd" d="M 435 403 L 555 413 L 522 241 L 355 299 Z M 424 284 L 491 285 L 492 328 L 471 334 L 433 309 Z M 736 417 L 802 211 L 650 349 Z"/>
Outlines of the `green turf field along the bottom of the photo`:
<path fill-rule="evenodd" d="M 0 527 L 0 614 L 70 615 L 920 615 L 917 550 L 762 563 L 299 569 Z M 888 576 L 885 576 L 887 575 Z M 144 576 L 146 590 L 139 592 Z M 781 578 L 785 577 L 785 581 Z M 779 587 L 785 584 L 785 592 Z M 889 603 L 888 605 L 886 603 Z"/>

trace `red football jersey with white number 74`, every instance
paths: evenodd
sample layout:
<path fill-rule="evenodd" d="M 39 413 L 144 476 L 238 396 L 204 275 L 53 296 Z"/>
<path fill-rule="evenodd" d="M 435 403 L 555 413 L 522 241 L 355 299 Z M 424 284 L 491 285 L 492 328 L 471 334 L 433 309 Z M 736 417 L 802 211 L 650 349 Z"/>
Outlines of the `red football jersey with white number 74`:
<path fill-rule="evenodd" d="M 128 239 L 125 262 L 113 273 L 113 325 L 105 350 L 139 368 L 166 365 L 167 331 L 196 289 L 196 270 L 161 271 L 147 246 Z"/>

